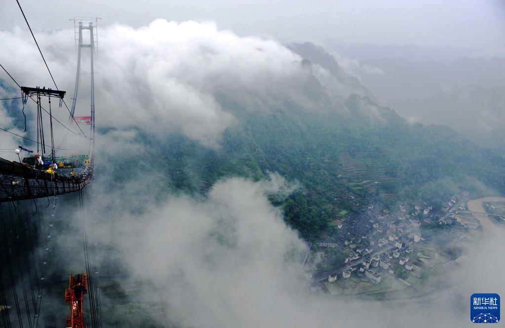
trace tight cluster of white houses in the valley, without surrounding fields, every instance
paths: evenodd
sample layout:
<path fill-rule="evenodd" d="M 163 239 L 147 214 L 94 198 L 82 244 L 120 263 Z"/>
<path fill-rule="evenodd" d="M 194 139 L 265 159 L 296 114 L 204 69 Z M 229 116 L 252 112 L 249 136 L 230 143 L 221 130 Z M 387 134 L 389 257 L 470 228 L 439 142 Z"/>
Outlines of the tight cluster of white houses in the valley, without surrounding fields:
<path fill-rule="evenodd" d="M 458 200 L 458 195 L 452 196 L 447 202 L 448 208 Z M 415 205 L 414 211 L 412 208 L 408 210 L 406 205 L 398 205 L 391 213 L 387 209 L 375 208 L 374 211 L 374 206 L 365 207 L 363 212 L 355 217 L 347 217 L 344 224 L 339 223 L 334 240 L 317 244 L 320 247 L 338 247 L 348 253 L 345 259 L 348 269 L 340 271 L 342 278 L 357 274 L 376 284 L 381 282 L 385 274 L 394 274 L 394 268 L 399 265 L 411 271 L 414 264 L 409 260 L 413 257 L 414 245 L 429 241 L 429 237 L 426 240 L 422 237 L 421 225 L 423 222 L 436 222 L 440 216 L 447 217 L 427 204 Z M 374 253 L 376 255 L 372 256 Z M 328 281 L 335 282 L 339 275 L 329 275 Z"/>

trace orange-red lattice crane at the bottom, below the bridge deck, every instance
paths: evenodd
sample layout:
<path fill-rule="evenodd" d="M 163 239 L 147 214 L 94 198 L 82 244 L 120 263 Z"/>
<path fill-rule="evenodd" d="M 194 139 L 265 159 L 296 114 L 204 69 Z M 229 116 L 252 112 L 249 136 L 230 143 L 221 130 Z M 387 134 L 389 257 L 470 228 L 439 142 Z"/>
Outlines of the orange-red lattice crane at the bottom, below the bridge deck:
<path fill-rule="evenodd" d="M 88 292 L 87 282 L 86 273 L 75 276 L 70 273 L 69 286 L 65 290 L 65 302 L 70 304 L 70 316 L 67 315 L 65 328 L 84 328 L 82 305 L 84 294 Z"/>

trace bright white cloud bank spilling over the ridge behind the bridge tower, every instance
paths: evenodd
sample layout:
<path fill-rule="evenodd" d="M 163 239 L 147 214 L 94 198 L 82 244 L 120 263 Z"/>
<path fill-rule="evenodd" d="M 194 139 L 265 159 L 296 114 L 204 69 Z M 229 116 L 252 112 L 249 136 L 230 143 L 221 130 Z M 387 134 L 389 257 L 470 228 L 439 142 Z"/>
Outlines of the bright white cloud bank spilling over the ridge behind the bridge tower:
<path fill-rule="evenodd" d="M 67 100 L 72 97 L 76 59 L 72 33 L 36 33 L 59 87 L 69 91 Z M 98 126 L 142 125 L 151 133 L 181 132 L 218 147 L 221 134 L 235 120 L 216 99 L 218 93 L 308 102 L 299 92 L 308 78 L 300 69 L 301 59 L 272 40 L 239 37 L 218 30 L 214 23 L 191 21 L 156 20 L 136 29 L 113 25 L 99 33 L 99 52 L 94 57 Z M 2 31 L 0 42 L 5 45 L 0 60 L 19 83 L 52 86 L 25 30 Z M 76 115 L 85 115 L 89 108 L 85 50 Z M 7 85 L 16 92 L 11 81 Z M 246 108 L 255 105 L 251 102 Z M 65 111 L 55 114 L 62 119 L 65 115 Z"/>

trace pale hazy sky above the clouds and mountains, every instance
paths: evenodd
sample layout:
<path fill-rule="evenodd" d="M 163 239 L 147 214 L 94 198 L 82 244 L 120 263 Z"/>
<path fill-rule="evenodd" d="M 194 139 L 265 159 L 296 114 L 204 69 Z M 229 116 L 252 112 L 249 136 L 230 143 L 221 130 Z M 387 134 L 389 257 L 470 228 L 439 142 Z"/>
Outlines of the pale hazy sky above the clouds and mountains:
<path fill-rule="evenodd" d="M 20 1 L 35 29 L 71 25 L 74 16 L 102 17 L 138 27 L 156 18 L 212 20 L 238 35 L 280 41 L 335 38 L 345 42 L 420 44 L 476 49 L 484 55 L 505 50 L 505 6 L 499 0 L 256 0 L 256 1 Z M 0 29 L 24 26 L 14 0 L 0 5 Z"/>

